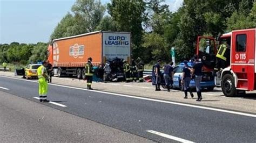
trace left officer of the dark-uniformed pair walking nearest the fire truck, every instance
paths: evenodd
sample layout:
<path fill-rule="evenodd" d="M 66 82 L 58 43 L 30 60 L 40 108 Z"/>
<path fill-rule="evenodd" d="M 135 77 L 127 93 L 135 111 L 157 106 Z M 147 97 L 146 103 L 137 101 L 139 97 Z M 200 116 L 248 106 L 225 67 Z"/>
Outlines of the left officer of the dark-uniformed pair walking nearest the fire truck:
<path fill-rule="evenodd" d="M 181 83 L 184 84 L 184 93 L 185 93 L 184 99 L 187 99 L 187 91 L 190 92 L 190 96 L 193 98 L 194 95 L 193 95 L 193 92 L 190 89 L 192 69 L 190 69 L 190 67 L 187 65 L 187 61 L 184 61 L 183 63 L 184 63 L 184 68 L 183 68 Z"/>

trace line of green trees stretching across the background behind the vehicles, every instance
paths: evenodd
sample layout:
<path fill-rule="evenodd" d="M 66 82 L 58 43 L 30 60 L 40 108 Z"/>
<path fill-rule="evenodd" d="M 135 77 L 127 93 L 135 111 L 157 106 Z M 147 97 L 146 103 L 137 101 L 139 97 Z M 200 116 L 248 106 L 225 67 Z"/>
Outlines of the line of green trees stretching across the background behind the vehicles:
<path fill-rule="evenodd" d="M 232 30 L 256 27 L 253 0 L 184 0 L 176 12 L 171 12 L 164 2 L 111 0 L 103 5 L 97 0 L 77 0 L 71 12 L 57 24 L 49 41 L 97 30 L 131 32 L 133 58 L 140 57 L 146 63 L 158 58 L 169 61 L 170 49 L 175 47 L 176 60 L 182 61 L 193 55 L 198 35 L 217 38 Z M 8 49 L 7 54 L 1 53 L 8 61 L 29 62 L 42 59 L 46 47 L 43 43 L 12 43 L 0 45 L 0 51 Z M 22 52 L 22 48 L 32 51 Z M 15 52 L 18 49 L 21 53 Z M 21 57 L 14 58 L 15 54 Z"/>

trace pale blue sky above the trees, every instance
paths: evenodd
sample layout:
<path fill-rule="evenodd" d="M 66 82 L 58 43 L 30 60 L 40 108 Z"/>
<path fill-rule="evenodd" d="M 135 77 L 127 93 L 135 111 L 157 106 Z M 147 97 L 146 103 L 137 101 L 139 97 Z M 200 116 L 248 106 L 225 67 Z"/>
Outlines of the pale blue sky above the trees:
<path fill-rule="evenodd" d="M 0 0 L 0 44 L 48 42 L 76 0 Z M 102 0 L 103 4 L 110 0 Z M 177 11 L 183 0 L 166 0 Z"/>

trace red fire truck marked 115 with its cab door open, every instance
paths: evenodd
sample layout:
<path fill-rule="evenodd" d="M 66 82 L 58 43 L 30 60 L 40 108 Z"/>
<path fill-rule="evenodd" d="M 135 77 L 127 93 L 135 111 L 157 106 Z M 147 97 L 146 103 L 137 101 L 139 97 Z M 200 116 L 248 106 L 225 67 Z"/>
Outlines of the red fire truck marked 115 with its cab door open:
<path fill-rule="evenodd" d="M 235 30 L 219 38 L 219 44 L 230 46 L 228 66 L 215 76 L 215 85 L 221 87 L 225 96 L 245 94 L 256 89 L 256 28 Z M 198 37 L 197 55 L 204 64 L 203 71 L 212 78 L 217 48 L 214 38 Z"/>

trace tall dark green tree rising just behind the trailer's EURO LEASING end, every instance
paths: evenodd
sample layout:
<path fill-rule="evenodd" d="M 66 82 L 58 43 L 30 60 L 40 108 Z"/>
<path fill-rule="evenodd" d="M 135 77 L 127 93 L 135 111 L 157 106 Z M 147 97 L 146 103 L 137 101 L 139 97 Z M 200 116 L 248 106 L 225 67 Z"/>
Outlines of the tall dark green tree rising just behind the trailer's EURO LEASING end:
<path fill-rule="evenodd" d="M 145 2 L 112 0 L 107 4 L 109 14 L 116 23 L 118 31 L 131 32 L 132 54 L 134 58 L 143 54 L 141 51 Z"/>

